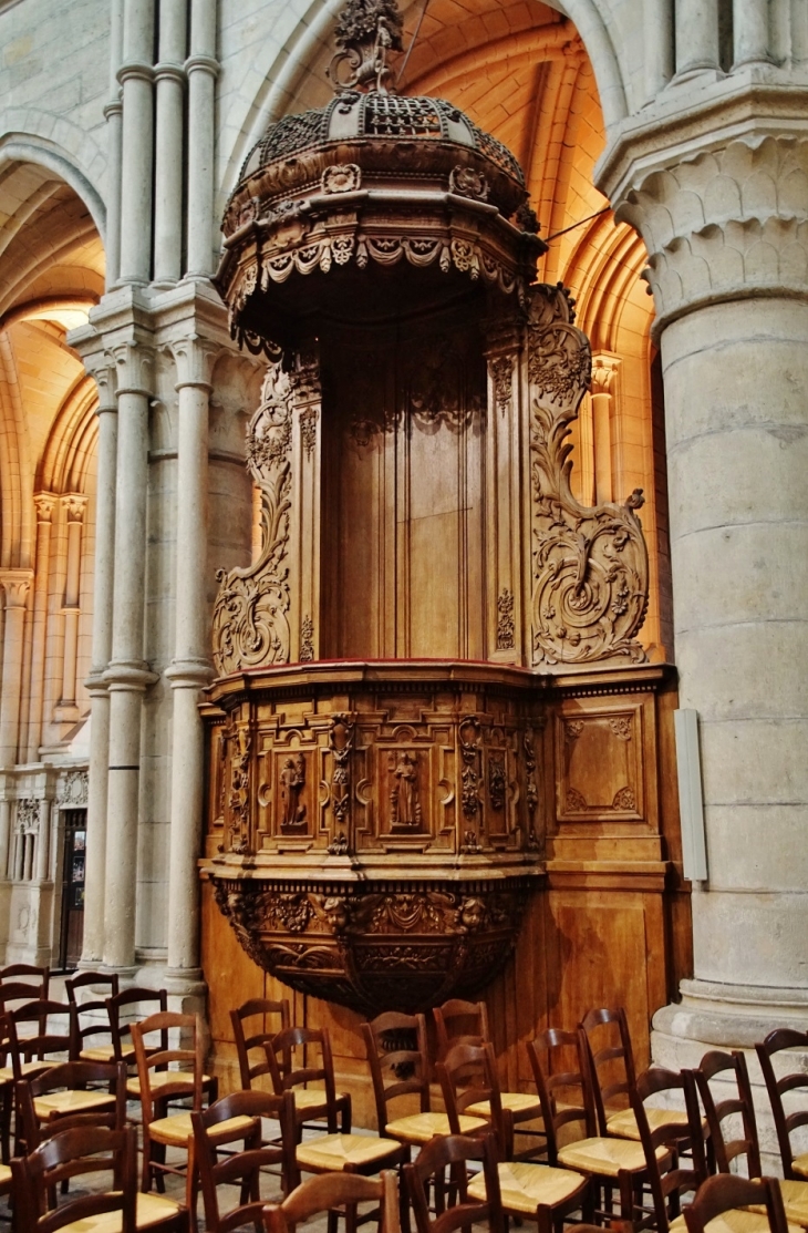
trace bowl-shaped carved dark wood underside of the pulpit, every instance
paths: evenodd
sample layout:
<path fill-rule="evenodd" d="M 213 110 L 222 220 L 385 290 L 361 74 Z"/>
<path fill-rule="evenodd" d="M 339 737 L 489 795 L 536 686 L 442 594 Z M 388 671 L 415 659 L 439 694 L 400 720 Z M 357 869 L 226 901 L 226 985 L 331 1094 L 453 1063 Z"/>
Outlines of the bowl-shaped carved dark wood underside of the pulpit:
<path fill-rule="evenodd" d="M 365 1015 L 473 997 L 516 942 L 530 878 L 488 883 L 299 885 L 216 877 L 216 901 L 246 953 L 299 993 Z"/>

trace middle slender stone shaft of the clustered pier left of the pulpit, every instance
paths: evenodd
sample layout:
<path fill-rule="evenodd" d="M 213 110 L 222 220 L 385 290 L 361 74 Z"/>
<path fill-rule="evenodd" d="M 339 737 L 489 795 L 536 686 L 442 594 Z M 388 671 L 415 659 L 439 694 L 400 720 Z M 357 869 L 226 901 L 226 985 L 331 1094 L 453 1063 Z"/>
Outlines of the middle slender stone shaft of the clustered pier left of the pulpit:
<path fill-rule="evenodd" d="M 110 690 L 105 967 L 134 970 L 140 708 L 156 678 L 143 660 L 145 514 L 152 351 L 139 339 L 115 348 L 118 396 L 118 483 L 115 507 Z"/>

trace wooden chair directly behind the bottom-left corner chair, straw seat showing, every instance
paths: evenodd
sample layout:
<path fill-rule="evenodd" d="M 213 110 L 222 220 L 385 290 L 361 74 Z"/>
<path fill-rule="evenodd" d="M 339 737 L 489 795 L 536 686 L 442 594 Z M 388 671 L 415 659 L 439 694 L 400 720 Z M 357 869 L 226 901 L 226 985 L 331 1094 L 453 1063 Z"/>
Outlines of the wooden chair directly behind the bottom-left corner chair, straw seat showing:
<path fill-rule="evenodd" d="M 107 1090 L 92 1090 L 87 1084 L 103 1084 Z M 43 1138 L 49 1138 L 60 1129 L 63 1118 L 87 1113 L 111 1115 L 110 1124 L 113 1129 L 121 1129 L 126 1122 L 123 1064 L 64 1062 L 50 1067 L 44 1074 L 21 1080 L 16 1091 L 17 1137 L 25 1138 L 26 1152 L 32 1152 Z M 42 1134 L 42 1127 L 47 1128 L 47 1134 Z"/>

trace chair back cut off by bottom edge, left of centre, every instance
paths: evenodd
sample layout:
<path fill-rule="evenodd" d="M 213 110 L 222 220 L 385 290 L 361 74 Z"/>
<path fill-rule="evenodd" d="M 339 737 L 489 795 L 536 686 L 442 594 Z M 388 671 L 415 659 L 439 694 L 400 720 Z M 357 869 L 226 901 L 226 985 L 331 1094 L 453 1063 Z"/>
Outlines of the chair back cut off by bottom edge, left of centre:
<path fill-rule="evenodd" d="M 379 1205 L 379 1233 L 399 1233 L 398 1185 L 395 1174 L 389 1170 L 384 1170 L 378 1181 L 350 1173 L 309 1178 L 282 1203 L 265 1205 L 264 1228 L 266 1233 L 294 1233 L 296 1226 L 312 1216 L 328 1212 L 330 1222 L 334 1210 L 345 1207 L 346 1224 L 352 1229 L 356 1205 L 368 1201 Z"/>

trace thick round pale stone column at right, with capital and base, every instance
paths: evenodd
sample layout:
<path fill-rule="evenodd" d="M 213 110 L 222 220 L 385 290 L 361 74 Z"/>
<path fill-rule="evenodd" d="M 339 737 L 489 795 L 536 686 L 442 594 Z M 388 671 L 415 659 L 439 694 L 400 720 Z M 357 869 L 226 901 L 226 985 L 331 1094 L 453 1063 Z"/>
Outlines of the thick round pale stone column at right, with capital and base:
<path fill-rule="evenodd" d="M 675 154 L 645 134 L 610 185 L 649 252 L 680 705 L 700 716 L 695 979 L 654 1021 L 691 1058 L 808 1012 L 808 125 L 775 138 L 746 106 L 680 125 Z"/>

